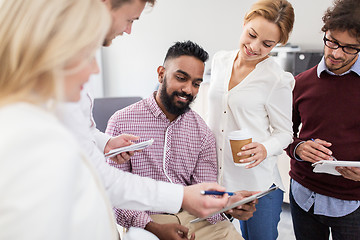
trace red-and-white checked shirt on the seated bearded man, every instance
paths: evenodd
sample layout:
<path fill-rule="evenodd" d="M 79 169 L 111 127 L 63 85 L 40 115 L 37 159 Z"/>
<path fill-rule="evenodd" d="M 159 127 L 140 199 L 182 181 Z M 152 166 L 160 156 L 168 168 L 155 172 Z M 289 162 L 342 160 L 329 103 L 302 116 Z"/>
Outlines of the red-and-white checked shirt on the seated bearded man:
<path fill-rule="evenodd" d="M 184 186 L 216 182 L 215 138 L 204 120 L 192 110 L 170 122 L 151 96 L 117 111 L 110 118 L 106 133 L 134 134 L 140 136 L 140 141 L 154 139 L 151 146 L 135 153 L 130 161 L 124 164 L 110 161 L 114 167 Z M 115 209 L 118 224 L 127 228 L 145 228 L 151 214 L 156 213 Z M 222 219 L 217 215 L 209 222 L 214 224 Z"/>

